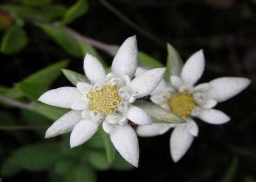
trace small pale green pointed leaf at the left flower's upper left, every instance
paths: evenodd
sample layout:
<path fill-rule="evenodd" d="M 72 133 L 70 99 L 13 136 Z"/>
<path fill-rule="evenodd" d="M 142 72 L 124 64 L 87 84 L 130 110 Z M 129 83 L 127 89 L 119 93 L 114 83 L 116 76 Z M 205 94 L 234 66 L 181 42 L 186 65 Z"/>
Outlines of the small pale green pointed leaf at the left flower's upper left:
<path fill-rule="evenodd" d="M 79 82 L 90 83 L 90 80 L 85 75 L 67 69 L 61 69 L 61 71 L 74 86 Z"/>

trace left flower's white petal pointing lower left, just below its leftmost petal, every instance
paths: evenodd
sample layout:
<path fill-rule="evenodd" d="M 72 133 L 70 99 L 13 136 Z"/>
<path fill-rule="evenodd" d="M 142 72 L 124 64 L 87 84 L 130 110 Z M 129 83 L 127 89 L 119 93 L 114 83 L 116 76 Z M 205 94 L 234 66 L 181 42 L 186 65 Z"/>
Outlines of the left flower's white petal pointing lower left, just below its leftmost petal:
<path fill-rule="evenodd" d="M 69 111 L 55 121 L 46 131 L 45 138 L 54 137 L 72 131 L 82 119 L 81 111 Z"/>

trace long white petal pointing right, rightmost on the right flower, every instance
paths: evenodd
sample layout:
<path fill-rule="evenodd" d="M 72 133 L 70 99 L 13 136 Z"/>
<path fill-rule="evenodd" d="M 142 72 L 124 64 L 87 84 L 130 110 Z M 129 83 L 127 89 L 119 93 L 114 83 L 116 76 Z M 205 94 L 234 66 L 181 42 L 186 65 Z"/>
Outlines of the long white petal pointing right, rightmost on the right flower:
<path fill-rule="evenodd" d="M 243 91 L 251 83 L 250 79 L 242 77 L 221 77 L 209 82 L 209 98 L 223 102 Z"/>

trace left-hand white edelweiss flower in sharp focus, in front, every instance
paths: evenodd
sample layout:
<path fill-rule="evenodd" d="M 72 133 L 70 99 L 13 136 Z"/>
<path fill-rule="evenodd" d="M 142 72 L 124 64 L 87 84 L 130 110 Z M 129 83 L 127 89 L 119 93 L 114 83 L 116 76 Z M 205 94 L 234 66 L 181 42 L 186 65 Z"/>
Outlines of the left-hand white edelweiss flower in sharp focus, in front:
<path fill-rule="evenodd" d="M 53 89 L 38 99 L 48 105 L 72 109 L 47 129 L 45 138 L 72 131 L 70 146 L 73 148 L 89 140 L 103 123 L 117 151 L 138 167 L 138 138 L 128 120 L 139 125 L 152 122 L 151 117 L 132 102 L 156 88 L 165 68 L 152 69 L 133 78 L 137 54 L 136 37 L 129 37 L 119 48 L 111 73 L 106 75 L 101 63 L 87 53 L 84 71 L 90 84 L 80 82 L 76 87 Z"/>

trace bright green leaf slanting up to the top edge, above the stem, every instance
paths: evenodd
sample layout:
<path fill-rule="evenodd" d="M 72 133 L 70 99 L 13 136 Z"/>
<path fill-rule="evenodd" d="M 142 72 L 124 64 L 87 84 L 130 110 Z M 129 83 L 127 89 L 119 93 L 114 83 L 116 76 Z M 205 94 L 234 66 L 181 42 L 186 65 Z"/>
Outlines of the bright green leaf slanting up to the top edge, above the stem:
<path fill-rule="evenodd" d="M 68 24 L 74 19 L 84 15 L 88 11 L 88 2 L 87 0 L 78 0 L 73 6 L 71 6 L 62 19 L 63 24 Z"/>

